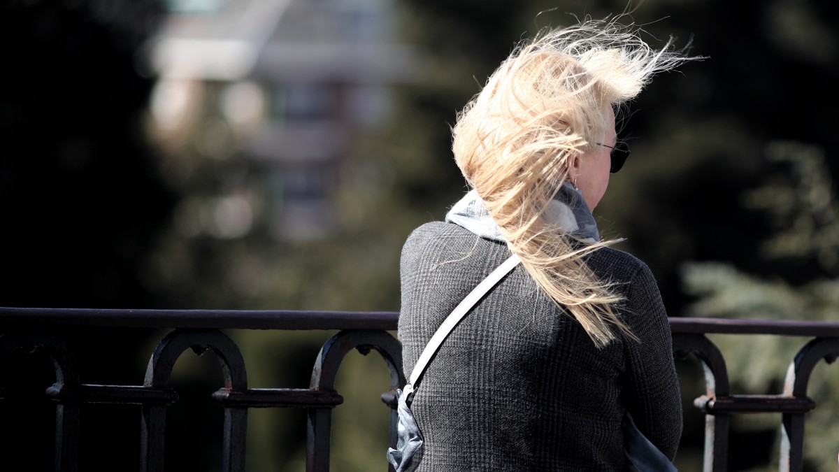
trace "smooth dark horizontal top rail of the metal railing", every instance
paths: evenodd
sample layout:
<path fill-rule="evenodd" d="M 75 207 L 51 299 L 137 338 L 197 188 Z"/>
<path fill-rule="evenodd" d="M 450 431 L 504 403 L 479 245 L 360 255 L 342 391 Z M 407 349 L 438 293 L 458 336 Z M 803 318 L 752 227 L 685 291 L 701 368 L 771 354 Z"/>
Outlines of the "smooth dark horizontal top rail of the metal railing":
<path fill-rule="evenodd" d="M 386 329 L 399 312 L 133 310 L 0 307 L 0 326 L 221 329 Z M 673 333 L 774 334 L 839 338 L 839 322 L 670 317 Z"/>

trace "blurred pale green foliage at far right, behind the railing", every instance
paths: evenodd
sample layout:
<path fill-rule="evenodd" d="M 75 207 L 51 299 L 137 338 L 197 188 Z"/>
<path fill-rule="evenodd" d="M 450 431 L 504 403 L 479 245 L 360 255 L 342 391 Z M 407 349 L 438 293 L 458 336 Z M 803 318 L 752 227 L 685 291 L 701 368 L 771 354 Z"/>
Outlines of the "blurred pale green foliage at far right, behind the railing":
<path fill-rule="evenodd" d="M 775 320 L 831 321 L 839 312 L 839 220 L 826 169 L 818 146 L 774 141 L 766 148 L 771 162 L 783 164 L 764 186 L 744 193 L 747 207 L 766 212 L 775 228 L 759 245 L 769 260 L 786 260 L 805 273 L 795 284 L 779 276 L 750 275 L 732 263 L 695 262 L 684 266 L 686 290 L 696 296 L 687 314 L 699 317 L 739 317 Z M 733 385 L 749 393 L 779 393 L 786 369 L 806 342 L 801 338 L 716 336 L 725 354 Z M 816 412 L 808 415 L 805 453 L 817 470 L 836 469 L 833 451 L 839 443 L 839 376 L 828 368 L 810 380 L 808 394 Z M 778 417 L 737 418 L 739 429 L 777 427 Z"/>

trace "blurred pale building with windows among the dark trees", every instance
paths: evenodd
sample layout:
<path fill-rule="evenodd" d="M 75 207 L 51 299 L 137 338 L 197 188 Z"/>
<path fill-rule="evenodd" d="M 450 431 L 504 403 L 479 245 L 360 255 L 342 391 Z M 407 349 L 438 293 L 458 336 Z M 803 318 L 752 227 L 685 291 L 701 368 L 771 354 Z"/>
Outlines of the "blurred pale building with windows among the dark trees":
<path fill-rule="evenodd" d="M 235 238 L 267 218 L 282 239 L 328 234 L 341 169 L 352 162 L 357 140 L 387 118 L 388 86 L 410 80 L 413 55 L 393 40 L 394 0 L 167 6 L 148 48 L 159 76 L 155 134 L 180 152 L 192 139 L 207 159 L 249 162 L 247 185 L 232 183 L 191 207 L 211 217 L 182 226 Z M 262 189 L 259 197 L 253 186 Z"/>

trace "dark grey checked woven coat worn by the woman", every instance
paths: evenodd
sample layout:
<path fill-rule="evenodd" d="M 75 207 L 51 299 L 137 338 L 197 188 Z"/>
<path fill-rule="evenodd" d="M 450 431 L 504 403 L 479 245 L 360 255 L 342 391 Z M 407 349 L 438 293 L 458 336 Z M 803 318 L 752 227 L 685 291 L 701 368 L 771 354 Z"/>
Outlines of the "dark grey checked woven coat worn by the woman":
<path fill-rule="evenodd" d="M 404 244 L 399 340 L 410 375 L 440 323 L 510 255 L 453 223 L 427 223 Z M 621 422 L 670 459 L 681 402 L 670 326 L 643 262 L 600 249 L 587 265 L 618 282 L 618 314 L 641 342 L 596 349 L 520 265 L 452 331 L 419 382 L 411 411 L 425 437 L 420 472 L 625 470 Z"/>

